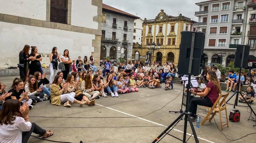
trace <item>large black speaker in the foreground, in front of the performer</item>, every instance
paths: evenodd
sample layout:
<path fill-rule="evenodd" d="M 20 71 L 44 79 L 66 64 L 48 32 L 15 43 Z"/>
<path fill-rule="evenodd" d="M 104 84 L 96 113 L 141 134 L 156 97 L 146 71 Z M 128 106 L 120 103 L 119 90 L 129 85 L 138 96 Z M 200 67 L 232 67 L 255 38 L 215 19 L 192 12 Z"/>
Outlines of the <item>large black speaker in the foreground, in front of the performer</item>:
<path fill-rule="evenodd" d="M 193 38 L 193 39 L 192 39 Z M 203 32 L 183 31 L 181 32 L 180 53 L 178 63 L 179 74 L 200 74 L 200 63 L 203 55 L 205 34 Z M 192 51 L 191 48 L 194 47 Z M 189 57 L 193 52 L 191 71 L 189 72 Z"/>

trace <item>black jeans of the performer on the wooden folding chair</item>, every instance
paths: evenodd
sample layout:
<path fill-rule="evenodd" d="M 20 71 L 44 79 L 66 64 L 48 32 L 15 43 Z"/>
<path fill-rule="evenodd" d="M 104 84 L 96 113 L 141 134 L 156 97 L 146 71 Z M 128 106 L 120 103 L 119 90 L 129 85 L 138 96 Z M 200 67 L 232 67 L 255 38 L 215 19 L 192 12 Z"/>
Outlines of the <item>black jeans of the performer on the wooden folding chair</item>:
<path fill-rule="evenodd" d="M 207 96 L 204 98 L 195 97 L 190 101 L 190 104 L 189 104 L 189 112 L 191 112 L 191 117 L 195 116 L 197 105 L 212 107 L 213 104 L 210 98 Z"/>

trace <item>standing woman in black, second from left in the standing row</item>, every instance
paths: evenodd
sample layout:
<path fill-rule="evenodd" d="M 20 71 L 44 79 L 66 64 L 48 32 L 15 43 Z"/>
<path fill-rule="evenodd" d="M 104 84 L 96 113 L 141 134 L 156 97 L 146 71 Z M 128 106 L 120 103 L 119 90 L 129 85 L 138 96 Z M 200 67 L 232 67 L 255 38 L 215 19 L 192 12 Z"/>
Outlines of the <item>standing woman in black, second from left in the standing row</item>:
<path fill-rule="evenodd" d="M 34 58 L 31 59 L 31 63 L 29 66 L 29 74 L 34 75 L 35 72 L 41 72 L 41 63 L 42 61 L 42 56 L 40 53 L 37 53 L 38 49 L 36 46 L 31 46 L 31 54 L 29 56 L 33 56 Z M 42 72 L 41 72 L 42 73 Z"/>

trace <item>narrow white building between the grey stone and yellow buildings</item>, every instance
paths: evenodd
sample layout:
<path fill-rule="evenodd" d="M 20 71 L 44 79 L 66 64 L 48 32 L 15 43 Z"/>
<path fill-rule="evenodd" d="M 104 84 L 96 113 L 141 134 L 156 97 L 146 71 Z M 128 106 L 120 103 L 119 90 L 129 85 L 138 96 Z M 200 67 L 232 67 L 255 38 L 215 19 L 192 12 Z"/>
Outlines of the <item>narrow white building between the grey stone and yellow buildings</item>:
<path fill-rule="evenodd" d="M 134 20 L 134 27 L 133 27 L 133 45 L 138 43 L 141 45 L 142 43 L 142 23 L 143 20 L 141 18 Z"/>

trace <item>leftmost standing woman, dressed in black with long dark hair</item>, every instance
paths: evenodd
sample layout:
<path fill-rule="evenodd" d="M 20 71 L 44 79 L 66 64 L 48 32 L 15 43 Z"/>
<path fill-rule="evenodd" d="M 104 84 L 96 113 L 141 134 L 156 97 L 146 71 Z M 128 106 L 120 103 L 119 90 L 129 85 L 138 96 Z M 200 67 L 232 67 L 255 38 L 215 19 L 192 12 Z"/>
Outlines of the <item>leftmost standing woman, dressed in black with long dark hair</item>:
<path fill-rule="evenodd" d="M 33 56 L 29 56 L 30 46 L 25 45 L 23 50 L 19 54 L 19 64 L 23 66 L 19 66 L 20 69 L 20 79 L 24 82 L 29 78 L 29 62 L 33 59 Z"/>

